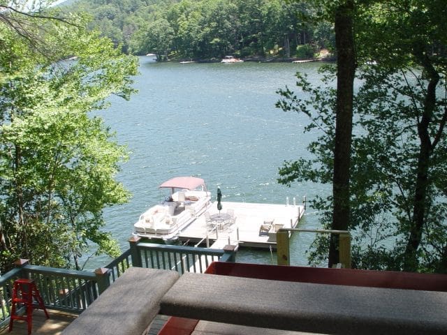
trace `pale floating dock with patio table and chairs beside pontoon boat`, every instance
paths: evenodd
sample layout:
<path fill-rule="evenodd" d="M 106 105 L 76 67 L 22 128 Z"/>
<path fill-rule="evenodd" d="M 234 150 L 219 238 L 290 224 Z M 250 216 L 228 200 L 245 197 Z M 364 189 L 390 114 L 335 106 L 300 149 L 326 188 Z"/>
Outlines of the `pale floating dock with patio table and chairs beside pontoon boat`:
<path fill-rule="evenodd" d="M 234 212 L 235 223 L 217 225 L 214 230 L 201 214 L 179 233 L 179 240 L 188 244 L 205 244 L 208 238 L 211 248 L 223 248 L 232 244 L 253 248 L 276 248 L 276 232 L 279 228 L 295 228 L 305 212 L 303 205 L 259 204 L 251 202 L 222 202 L 221 213 Z M 217 202 L 207 210 L 218 214 Z"/>

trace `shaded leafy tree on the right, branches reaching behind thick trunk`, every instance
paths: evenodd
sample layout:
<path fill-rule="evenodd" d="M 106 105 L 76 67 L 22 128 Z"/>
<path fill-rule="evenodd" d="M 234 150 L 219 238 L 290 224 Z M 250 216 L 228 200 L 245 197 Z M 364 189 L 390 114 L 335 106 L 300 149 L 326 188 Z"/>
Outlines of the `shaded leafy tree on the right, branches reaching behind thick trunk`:
<path fill-rule="evenodd" d="M 375 65 L 360 68 L 354 98 L 349 229 L 355 267 L 447 271 L 445 14 L 442 1 L 388 1 L 356 17 L 358 60 Z M 329 183 L 335 91 L 330 82 L 310 87 L 302 76 L 298 84 L 310 98 L 283 90 L 279 105 L 309 114 L 310 128 L 323 135 L 309 147 L 316 158 L 287 162 L 281 181 Z M 330 225 L 332 198 L 314 204 Z M 324 258 L 323 247 L 327 240 L 318 239 L 313 260 Z"/>

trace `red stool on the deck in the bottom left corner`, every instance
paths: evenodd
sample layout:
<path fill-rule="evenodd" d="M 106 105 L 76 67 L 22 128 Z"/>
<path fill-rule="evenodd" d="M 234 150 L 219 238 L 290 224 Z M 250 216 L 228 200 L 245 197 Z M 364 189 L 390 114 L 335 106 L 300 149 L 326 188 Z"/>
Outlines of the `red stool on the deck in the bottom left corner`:
<path fill-rule="evenodd" d="M 9 331 L 13 330 L 13 322 L 14 320 L 25 320 L 28 322 L 28 335 L 31 334 L 31 328 L 33 324 L 33 298 L 37 301 L 38 306 L 43 309 L 45 315 L 47 315 L 47 319 L 50 318 L 50 315 L 47 313 L 47 309 L 43 304 L 43 299 L 41 294 L 39 293 L 36 283 L 34 283 L 31 279 L 20 278 L 14 281 L 13 287 L 13 299 L 12 299 L 12 307 L 11 307 L 11 315 L 9 320 Z M 24 304 L 27 308 L 26 315 L 15 315 L 16 305 Z"/>

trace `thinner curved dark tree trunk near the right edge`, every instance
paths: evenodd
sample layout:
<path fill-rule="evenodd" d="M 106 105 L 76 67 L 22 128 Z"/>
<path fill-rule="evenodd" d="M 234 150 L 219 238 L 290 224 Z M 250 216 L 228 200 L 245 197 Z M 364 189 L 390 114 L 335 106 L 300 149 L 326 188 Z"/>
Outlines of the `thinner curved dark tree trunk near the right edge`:
<path fill-rule="evenodd" d="M 404 271 L 416 271 L 418 269 L 417 251 L 422 239 L 423 225 L 425 223 L 425 210 L 427 207 L 428 171 L 433 147 L 430 140 L 430 124 L 436 107 L 436 89 L 439 83 L 439 74 L 432 66 L 427 55 L 420 46 L 415 47 L 415 56 L 423 64 L 423 68 L 430 78 L 425 95 L 422 117 L 418 123 L 418 136 L 420 140 L 418 168 L 414 186 L 413 218 L 410 227 L 409 239 L 405 248 Z"/>

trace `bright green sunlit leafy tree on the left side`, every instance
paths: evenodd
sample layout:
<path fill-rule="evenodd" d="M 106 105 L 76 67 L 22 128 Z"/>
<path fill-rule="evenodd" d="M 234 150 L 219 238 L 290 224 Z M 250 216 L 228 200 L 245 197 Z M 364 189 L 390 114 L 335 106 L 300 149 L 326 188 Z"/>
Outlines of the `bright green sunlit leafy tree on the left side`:
<path fill-rule="evenodd" d="M 88 33 L 82 17 L 67 24 L 56 14 L 10 12 L 33 41 L 0 25 L 0 271 L 17 258 L 79 268 L 90 241 L 98 253 L 119 251 L 101 231 L 102 210 L 129 198 L 113 179 L 126 150 L 88 113 L 110 94 L 129 98 L 138 62 Z"/>

